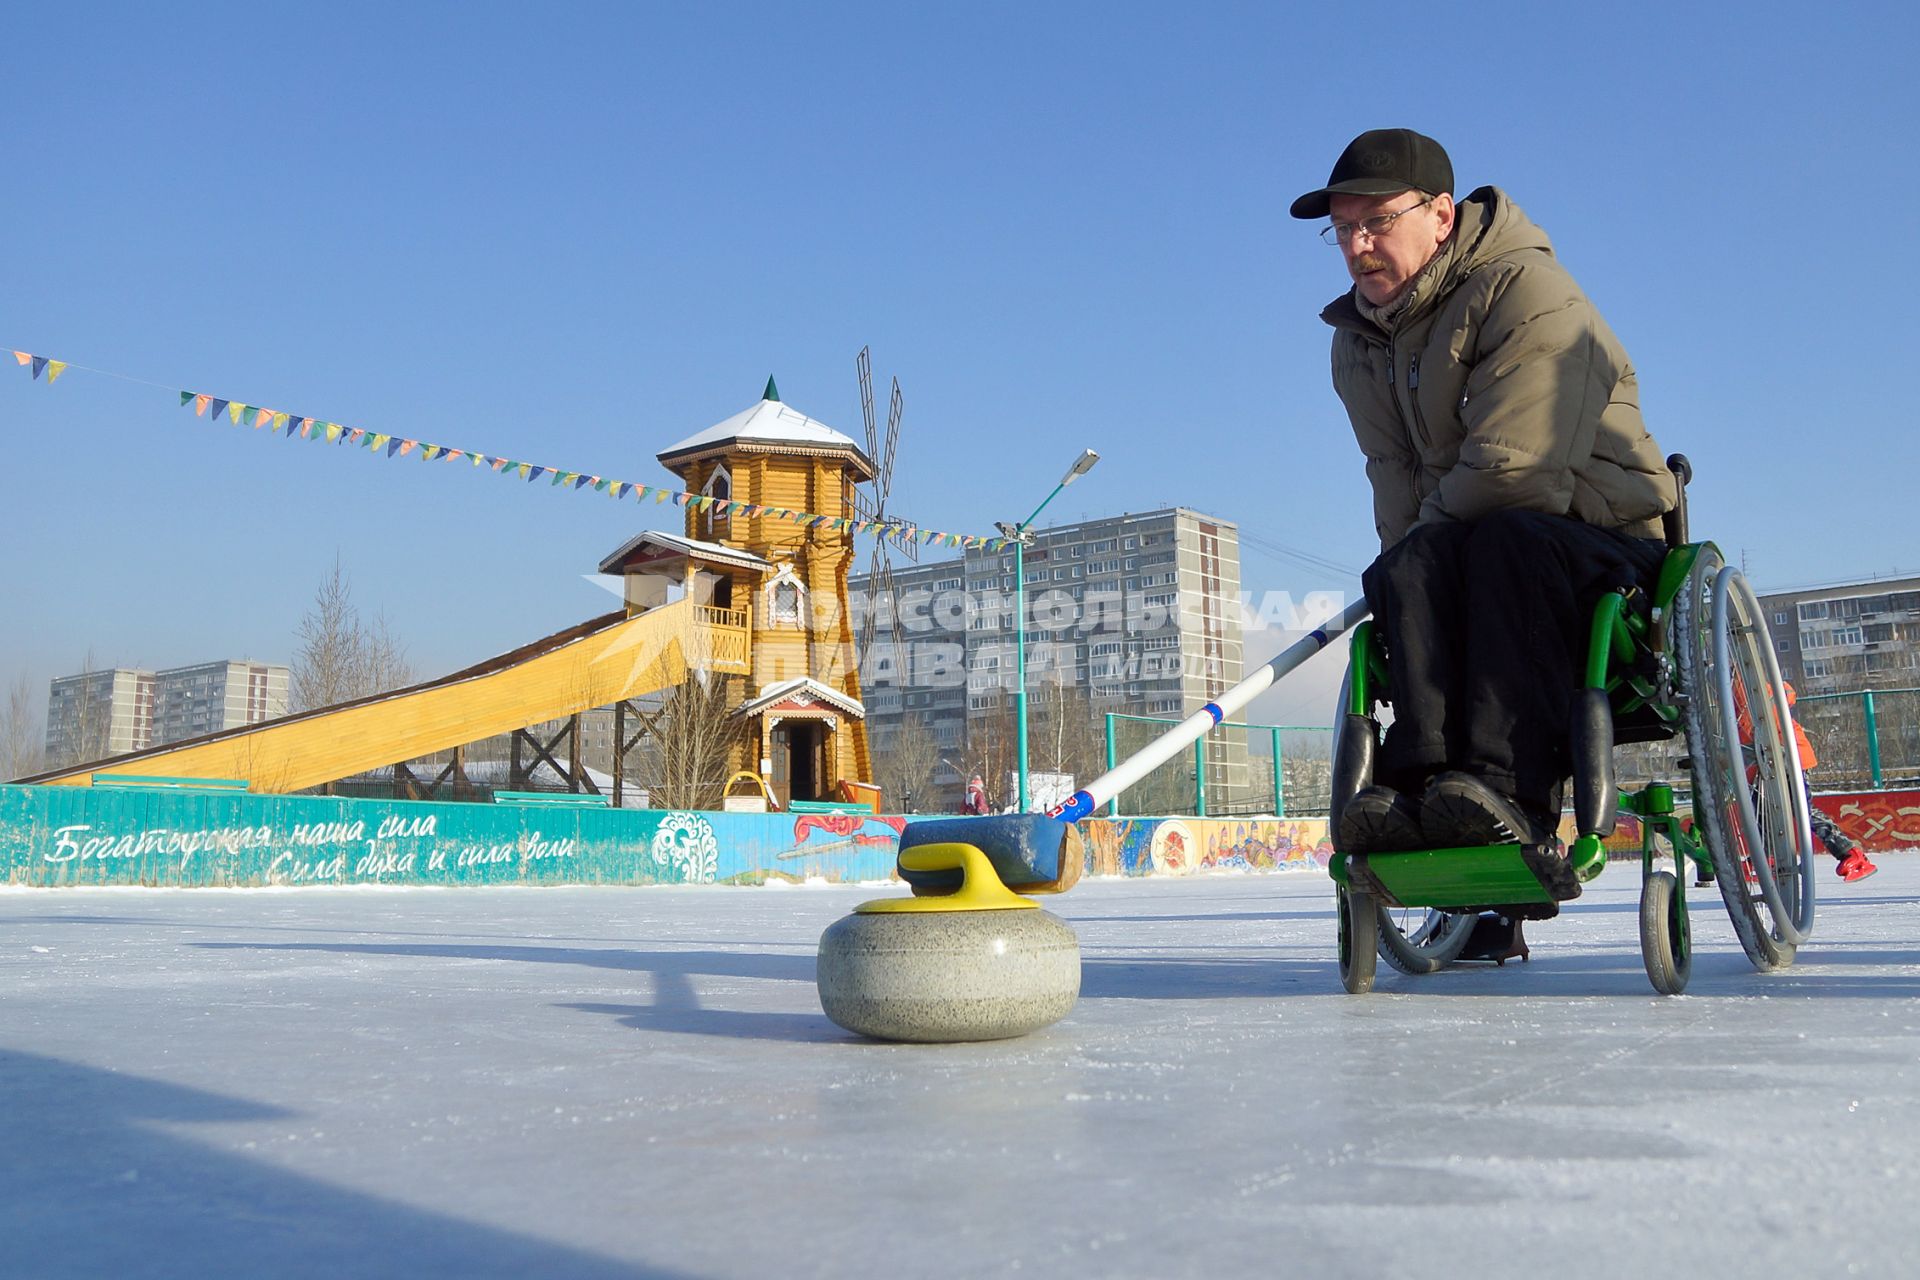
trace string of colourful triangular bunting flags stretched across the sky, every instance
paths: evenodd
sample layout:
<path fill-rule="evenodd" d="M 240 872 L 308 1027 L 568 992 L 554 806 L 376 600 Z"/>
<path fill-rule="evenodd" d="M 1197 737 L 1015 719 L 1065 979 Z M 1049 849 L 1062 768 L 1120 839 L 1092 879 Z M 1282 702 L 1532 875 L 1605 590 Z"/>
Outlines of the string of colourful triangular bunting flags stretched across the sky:
<path fill-rule="evenodd" d="M 115 374 L 106 368 L 88 368 L 86 365 L 73 365 L 69 361 L 56 361 L 46 355 L 33 355 L 31 351 L 13 351 L 13 363 L 29 370 L 33 380 L 46 374 L 46 384 L 52 386 L 60 380 L 60 374 L 69 368 L 83 368 L 92 374 L 106 378 L 119 378 L 121 382 L 138 382 L 140 386 L 161 386 L 157 382 L 148 382 L 144 378 L 131 378 L 127 374 Z M 253 430 L 265 428 L 267 434 L 278 434 L 286 439 L 324 439 L 330 445 L 365 447 L 369 453 L 384 453 L 390 459 L 403 459 L 419 453 L 424 462 L 453 462 L 467 459 L 474 468 L 488 468 L 499 476 L 518 476 L 532 484 L 541 476 L 551 476 L 547 482 L 553 487 L 568 487 L 572 491 L 591 489 L 595 493 L 609 493 L 616 501 L 626 495 L 634 495 L 634 501 L 645 503 L 653 499 L 655 503 L 672 501 L 674 507 L 691 507 L 695 510 L 720 510 L 728 516 L 747 516 L 751 518 L 770 518 L 783 520 L 787 524 L 799 524 L 806 530 L 829 530 L 839 533 L 870 533 L 874 537 L 893 539 L 897 543 L 924 543 L 927 547 L 964 547 L 975 551 L 1004 551 L 1010 543 L 1006 537 L 983 537 L 975 533 L 945 533 L 941 530 L 924 530 L 910 520 L 851 520 L 847 516 L 824 516 L 810 510 L 789 510 L 785 507 L 762 507 L 758 503 L 737 503 L 726 499 L 714 499 L 705 493 L 684 493 L 674 489 L 664 489 L 660 486 L 634 484 L 632 480 L 609 480 L 605 476 L 589 476 L 576 470 L 561 470 L 557 466 L 545 466 L 538 462 L 518 462 L 513 459 L 492 457 L 478 453 L 474 449 L 453 449 L 449 445 L 438 445 L 420 439 L 407 439 L 405 436 L 394 436 L 390 432 L 369 432 L 357 426 L 344 426 L 340 422 L 328 422 L 324 418 L 309 418 L 294 413 L 284 413 L 278 409 L 267 409 L 263 405 L 248 405 L 238 399 L 221 399 L 207 391 L 179 391 L 180 409 L 192 407 L 196 418 L 207 418 L 217 422 L 225 416 L 232 426 L 250 426 Z"/>

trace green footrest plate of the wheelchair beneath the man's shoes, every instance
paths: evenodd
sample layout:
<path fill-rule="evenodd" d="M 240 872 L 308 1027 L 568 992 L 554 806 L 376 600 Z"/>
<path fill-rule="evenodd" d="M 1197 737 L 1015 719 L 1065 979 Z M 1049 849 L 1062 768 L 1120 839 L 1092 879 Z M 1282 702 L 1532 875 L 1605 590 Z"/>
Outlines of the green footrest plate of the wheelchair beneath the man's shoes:
<path fill-rule="evenodd" d="M 1348 883 L 1388 906 L 1432 906 L 1455 912 L 1555 908 L 1580 896 L 1580 879 L 1559 841 L 1344 854 L 1344 858 Z M 1542 912 L 1542 915 L 1551 913 L 1551 910 Z"/>

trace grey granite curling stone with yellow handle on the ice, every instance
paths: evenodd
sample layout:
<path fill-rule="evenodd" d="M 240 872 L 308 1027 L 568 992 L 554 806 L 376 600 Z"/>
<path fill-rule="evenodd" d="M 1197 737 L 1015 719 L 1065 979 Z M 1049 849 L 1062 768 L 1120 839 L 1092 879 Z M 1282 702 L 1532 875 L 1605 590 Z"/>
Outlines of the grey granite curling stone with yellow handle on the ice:
<path fill-rule="evenodd" d="M 1068 1015 L 1079 938 L 1021 898 L 972 844 L 900 850 L 900 871 L 952 871 L 948 894 L 879 898 L 820 935 L 820 1007 L 876 1040 L 1004 1040 Z"/>

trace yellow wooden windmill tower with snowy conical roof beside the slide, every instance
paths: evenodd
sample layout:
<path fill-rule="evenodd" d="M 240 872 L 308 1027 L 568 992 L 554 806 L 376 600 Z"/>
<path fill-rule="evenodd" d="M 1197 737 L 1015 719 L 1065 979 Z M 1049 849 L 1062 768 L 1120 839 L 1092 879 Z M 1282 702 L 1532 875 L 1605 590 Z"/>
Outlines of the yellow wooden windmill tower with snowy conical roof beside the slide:
<path fill-rule="evenodd" d="M 780 403 L 772 378 L 760 403 L 659 459 L 687 493 L 712 503 L 689 503 L 680 535 L 641 533 L 601 570 L 628 574 L 630 610 L 662 603 L 645 593 L 664 593 L 678 578 L 716 622 L 745 614 L 751 674 L 730 712 L 745 735 L 728 771 L 760 773 L 781 804 L 835 798 L 841 779 L 872 779 L 847 601 L 852 533 L 764 512 L 854 518 L 854 486 L 874 480 L 872 459 Z"/>

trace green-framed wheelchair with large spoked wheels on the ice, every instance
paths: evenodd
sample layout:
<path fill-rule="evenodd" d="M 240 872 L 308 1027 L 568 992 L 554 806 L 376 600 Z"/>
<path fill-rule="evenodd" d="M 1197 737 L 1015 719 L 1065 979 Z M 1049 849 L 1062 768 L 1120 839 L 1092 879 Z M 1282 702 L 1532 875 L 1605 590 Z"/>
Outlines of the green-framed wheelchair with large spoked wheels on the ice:
<path fill-rule="evenodd" d="M 1667 466 L 1680 503 L 1665 518 L 1668 553 L 1647 599 L 1611 591 L 1594 608 L 1584 683 L 1574 697 L 1574 841 L 1405 852 L 1334 852 L 1340 983 L 1373 990 L 1375 961 L 1407 975 L 1459 960 L 1480 912 L 1549 919 L 1607 865 L 1601 841 L 1620 814 L 1640 819 L 1640 952 L 1661 994 L 1686 990 L 1693 946 L 1688 871 L 1720 889 L 1740 946 L 1761 971 L 1793 963 L 1812 931 L 1812 831 L 1786 689 L 1753 589 L 1713 543 L 1688 541 L 1692 466 Z M 1373 781 L 1380 706 L 1392 706 L 1392 654 L 1373 622 L 1354 629 L 1334 720 L 1331 829 Z M 1674 781 L 1615 783 L 1613 748 L 1684 739 L 1692 821 Z M 1670 869 L 1661 864 L 1670 864 Z"/>

